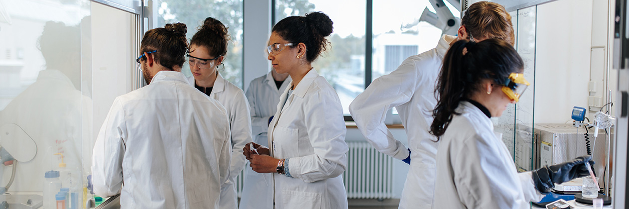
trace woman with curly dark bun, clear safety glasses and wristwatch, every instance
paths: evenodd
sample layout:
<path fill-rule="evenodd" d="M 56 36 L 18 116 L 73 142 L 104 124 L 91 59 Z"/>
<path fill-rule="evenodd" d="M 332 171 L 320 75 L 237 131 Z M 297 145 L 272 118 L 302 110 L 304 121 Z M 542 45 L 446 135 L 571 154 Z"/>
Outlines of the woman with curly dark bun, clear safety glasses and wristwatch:
<path fill-rule="evenodd" d="M 243 149 L 253 171 L 273 173 L 274 202 L 259 208 L 347 208 L 340 176 L 348 151 L 343 109 L 334 88 L 311 65 L 326 50 L 332 28 L 321 12 L 284 18 L 273 27 L 268 58 L 292 82 L 269 124 L 272 149 L 255 143 Z"/>

